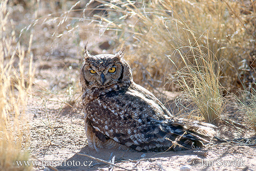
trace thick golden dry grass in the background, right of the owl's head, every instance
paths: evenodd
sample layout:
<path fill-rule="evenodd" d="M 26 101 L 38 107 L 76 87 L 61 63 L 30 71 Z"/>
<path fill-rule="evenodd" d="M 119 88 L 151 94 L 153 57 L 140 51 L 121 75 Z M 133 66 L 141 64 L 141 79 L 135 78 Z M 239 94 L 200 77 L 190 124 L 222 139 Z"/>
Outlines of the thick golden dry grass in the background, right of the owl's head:
<path fill-rule="evenodd" d="M 252 70 L 253 59 L 249 53 L 255 43 L 255 3 L 227 0 L 97 1 L 102 3 L 99 8 L 105 6 L 108 9 L 103 16 L 94 15 L 94 22 L 102 35 L 112 31 L 114 41 L 127 44 L 128 60 L 137 68 L 134 68 L 137 83 L 148 88 L 163 86 L 163 75 L 176 71 L 166 55 L 183 46 L 207 46 L 207 42 L 220 64 L 220 81 L 228 91 L 234 92 L 242 84 L 248 87 L 253 82 L 252 79 L 248 82 L 247 78 L 251 76 L 249 70 Z M 208 36 L 204 34 L 206 31 Z M 170 58 L 178 69 L 184 67 L 180 56 Z M 166 88 L 173 89 L 169 85 Z"/>

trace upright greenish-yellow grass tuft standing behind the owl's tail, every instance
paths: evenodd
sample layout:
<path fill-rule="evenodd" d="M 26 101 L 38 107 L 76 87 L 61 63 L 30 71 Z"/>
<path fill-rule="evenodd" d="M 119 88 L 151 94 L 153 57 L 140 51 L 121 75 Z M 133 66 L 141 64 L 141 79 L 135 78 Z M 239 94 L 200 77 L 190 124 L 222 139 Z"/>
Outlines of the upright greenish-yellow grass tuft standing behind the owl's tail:
<path fill-rule="evenodd" d="M 224 108 L 219 65 L 214 60 L 215 56 L 210 51 L 204 53 L 202 48 L 205 47 L 189 47 L 187 53 L 191 55 L 183 55 L 177 49 L 185 67 L 177 70 L 171 81 L 177 82 L 184 96 L 196 106 L 198 113 L 207 122 L 218 125 Z"/>

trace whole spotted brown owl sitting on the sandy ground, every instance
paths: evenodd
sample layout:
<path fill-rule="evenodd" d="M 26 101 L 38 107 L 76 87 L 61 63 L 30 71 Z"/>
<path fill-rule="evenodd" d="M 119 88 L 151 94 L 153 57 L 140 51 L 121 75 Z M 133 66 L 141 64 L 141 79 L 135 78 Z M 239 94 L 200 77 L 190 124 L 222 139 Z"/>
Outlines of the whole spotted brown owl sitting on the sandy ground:
<path fill-rule="evenodd" d="M 90 55 L 80 70 L 85 133 L 89 147 L 180 151 L 202 147 L 215 126 L 174 117 L 148 90 L 135 84 L 124 49 Z"/>

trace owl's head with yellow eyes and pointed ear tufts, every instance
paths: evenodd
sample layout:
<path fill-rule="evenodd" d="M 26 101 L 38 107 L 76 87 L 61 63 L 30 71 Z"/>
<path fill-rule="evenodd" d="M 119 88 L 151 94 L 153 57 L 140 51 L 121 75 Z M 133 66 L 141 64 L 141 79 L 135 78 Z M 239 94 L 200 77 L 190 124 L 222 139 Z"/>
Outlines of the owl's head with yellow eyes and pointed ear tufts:
<path fill-rule="evenodd" d="M 90 55 L 84 47 L 84 63 L 80 70 L 80 83 L 85 88 L 110 87 L 112 85 L 130 85 L 131 67 L 123 59 L 124 48 L 115 55 Z"/>

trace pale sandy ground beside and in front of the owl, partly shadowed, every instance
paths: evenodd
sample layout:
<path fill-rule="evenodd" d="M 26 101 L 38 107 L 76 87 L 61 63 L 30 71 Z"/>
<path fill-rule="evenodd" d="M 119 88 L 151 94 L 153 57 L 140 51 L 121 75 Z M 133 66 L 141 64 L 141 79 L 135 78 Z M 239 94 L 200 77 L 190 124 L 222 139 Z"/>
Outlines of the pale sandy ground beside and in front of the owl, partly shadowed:
<path fill-rule="evenodd" d="M 115 157 L 116 165 L 139 171 L 175 171 L 180 170 L 185 165 L 188 165 L 192 171 L 256 170 L 256 148 L 232 143 L 215 142 L 198 151 L 142 153 L 105 149 L 97 152 L 87 145 L 82 114 L 72 112 L 70 107 L 64 107 L 57 117 L 58 109 L 50 109 L 49 106 L 58 106 L 58 104 L 47 102 L 49 103 L 47 105 L 48 118 L 39 102 L 35 102 L 38 106 L 29 110 L 32 113 L 35 112 L 30 123 L 31 150 L 35 157 L 44 161 L 43 165 L 61 165 L 56 167 L 60 171 L 96 171 L 111 168 L 109 165 L 79 154 L 87 154 L 106 161 Z M 54 126 L 53 123 L 55 123 Z M 228 127 L 222 128 L 222 130 L 226 130 L 225 133 L 230 134 L 235 132 Z M 44 167 L 41 166 L 35 168 L 36 171 L 43 169 Z M 114 170 L 124 169 L 115 167 Z"/>

